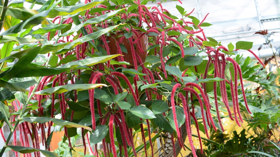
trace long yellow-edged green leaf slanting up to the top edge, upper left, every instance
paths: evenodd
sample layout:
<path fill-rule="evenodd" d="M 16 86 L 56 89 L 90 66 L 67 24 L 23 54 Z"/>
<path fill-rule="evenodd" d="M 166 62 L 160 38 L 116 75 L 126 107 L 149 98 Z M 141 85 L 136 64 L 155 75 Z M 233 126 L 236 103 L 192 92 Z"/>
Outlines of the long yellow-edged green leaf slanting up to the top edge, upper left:
<path fill-rule="evenodd" d="M 30 17 L 29 19 L 22 21 L 21 23 L 9 28 L 5 32 L 3 32 L 1 35 L 15 34 L 15 33 L 20 32 L 22 29 L 39 25 L 42 23 L 42 21 L 45 20 L 45 18 L 55 18 L 55 17 L 61 16 L 61 15 L 73 15 L 73 14 L 79 13 L 81 11 L 89 10 L 101 2 L 102 2 L 102 0 L 94 0 L 94 1 L 92 1 L 90 3 L 86 3 L 86 4 L 78 4 L 78 5 L 72 5 L 72 6 L 66 6 L 66 7 L 57 7 L 54 9 L 42 11 L 41 13 L 36 14 L 36 15 Z"/>

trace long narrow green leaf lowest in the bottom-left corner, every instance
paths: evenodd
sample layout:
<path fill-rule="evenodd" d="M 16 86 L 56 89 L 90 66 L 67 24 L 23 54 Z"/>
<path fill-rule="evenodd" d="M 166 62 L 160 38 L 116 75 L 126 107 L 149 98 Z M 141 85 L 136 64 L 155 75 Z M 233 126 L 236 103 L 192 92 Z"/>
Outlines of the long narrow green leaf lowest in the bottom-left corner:
<path fill-rule="evenodd" d="M 30 147 L 22 147 L 22 146 L 8 146 L 8 147 L 11 148 L 12 150 L 16 151 L 16 152 L 20 152 L 20 153 L 23 153 L 23 154 L 32 153 L 32 152 L 41 152 L 46 157 L 55 157 L 55 156 L 59 157 L 54 152 L 50 152 L 48 150 L 41 150 L 41 149 L 30 148 Z"/>

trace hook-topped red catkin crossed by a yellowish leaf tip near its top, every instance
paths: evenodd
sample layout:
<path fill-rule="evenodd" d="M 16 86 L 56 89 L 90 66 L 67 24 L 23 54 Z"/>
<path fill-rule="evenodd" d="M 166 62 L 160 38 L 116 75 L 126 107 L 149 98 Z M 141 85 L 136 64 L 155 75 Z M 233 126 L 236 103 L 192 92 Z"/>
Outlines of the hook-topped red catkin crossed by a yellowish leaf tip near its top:
<path fill-rule="evenodd" d="M 97 73 L 94 75 L 91 84 L 95 84 L 98 78 L 103 76 L 102 73 Z M 96 124 L 95 124 L 95 113 L 94 113 L 94 89 L 89 89 L 89 106 L 91 111 L 91 123 L 92 123 L 92 129 L 95 130 Z"/>

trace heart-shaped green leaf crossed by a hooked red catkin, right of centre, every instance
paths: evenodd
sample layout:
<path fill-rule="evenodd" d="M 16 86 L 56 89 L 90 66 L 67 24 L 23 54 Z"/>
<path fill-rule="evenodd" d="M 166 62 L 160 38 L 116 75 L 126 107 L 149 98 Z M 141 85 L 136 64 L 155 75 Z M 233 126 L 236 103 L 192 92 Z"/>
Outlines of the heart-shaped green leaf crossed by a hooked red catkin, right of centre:
<path fill-rule="evenodd" d="M 186 118 L 186 116 L 184 114 L 184 111 L 183 111 L 183 107 L 176 106 L 175 110 L 176 110 L 176 115 L 177 115 L 178 127 L 181 127 L 181 125 L 183 125 L 185 123 L 185 118 Z M 176 130 L 174 119 L 173 119 L 173 113 L 172 112 L 168 112 L 167 118 L 169 119 L 171 127 L 174 130 Z"/>

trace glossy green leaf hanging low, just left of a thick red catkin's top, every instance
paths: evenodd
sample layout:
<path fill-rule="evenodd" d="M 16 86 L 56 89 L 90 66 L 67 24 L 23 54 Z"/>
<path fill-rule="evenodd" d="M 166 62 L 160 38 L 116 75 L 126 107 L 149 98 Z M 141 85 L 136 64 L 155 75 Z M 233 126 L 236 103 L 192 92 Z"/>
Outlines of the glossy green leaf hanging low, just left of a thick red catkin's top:
<path fill-rule="evenodd" d="M 103 140 L 109 131 L 108 126 L 99 125 L 89 136 L 90 145 L 93 146 Z"/>

